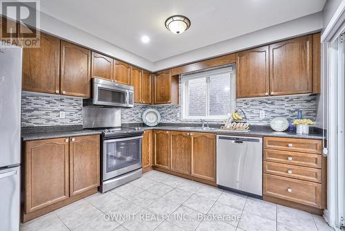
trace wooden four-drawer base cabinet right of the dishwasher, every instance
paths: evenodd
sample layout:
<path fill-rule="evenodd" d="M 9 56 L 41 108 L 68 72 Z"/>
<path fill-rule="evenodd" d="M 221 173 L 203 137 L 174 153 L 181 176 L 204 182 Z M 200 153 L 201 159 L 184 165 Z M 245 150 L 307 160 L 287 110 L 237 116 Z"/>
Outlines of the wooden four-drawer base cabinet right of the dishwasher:
<path fill-rule="evenodd" d="M 263 198 L 315 214 L 326 209 L 322 140 L 264 138 Z"/>

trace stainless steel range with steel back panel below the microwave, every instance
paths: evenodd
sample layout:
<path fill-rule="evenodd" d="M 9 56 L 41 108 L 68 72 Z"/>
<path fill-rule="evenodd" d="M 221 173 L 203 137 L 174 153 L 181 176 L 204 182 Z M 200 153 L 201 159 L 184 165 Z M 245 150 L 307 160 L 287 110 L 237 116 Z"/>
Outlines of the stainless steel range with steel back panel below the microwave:
<path fill-rule="evenodd" d="M 144 131 L 121 127 L 120 109 L 83 107 L 83 127 L 101 134 L 101 192 L 141 177 Z"/>

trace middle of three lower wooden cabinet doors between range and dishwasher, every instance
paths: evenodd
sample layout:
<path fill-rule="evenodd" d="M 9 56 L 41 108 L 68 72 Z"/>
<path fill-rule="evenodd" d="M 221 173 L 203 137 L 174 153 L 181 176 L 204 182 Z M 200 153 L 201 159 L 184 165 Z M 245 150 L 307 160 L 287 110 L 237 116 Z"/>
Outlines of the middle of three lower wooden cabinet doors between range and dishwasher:
<path fill-rule="evenodd" d="M 188 132 L 170 133 L 170 170 L 190 174 L 190 136 Z"/>

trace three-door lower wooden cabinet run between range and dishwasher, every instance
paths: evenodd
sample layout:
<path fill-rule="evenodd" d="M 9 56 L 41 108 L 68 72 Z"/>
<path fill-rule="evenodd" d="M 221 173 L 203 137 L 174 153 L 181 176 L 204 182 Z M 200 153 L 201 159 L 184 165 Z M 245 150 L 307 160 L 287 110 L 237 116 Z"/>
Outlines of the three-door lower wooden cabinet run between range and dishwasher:
<path fill-rule="evenodd" d="M 153 166 L 191 179 L 215 183 L 215 134 L 154 131 Z"/>

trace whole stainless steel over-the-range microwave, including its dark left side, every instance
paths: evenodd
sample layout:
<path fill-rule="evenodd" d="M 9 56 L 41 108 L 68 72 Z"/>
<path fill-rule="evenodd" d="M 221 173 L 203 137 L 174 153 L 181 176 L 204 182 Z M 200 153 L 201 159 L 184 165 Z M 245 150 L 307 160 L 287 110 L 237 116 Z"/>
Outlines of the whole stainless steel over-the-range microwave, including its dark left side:
<path fill-rule="evenodd" d="M 95 77 L 92 79 L 92 98 L 83 100 L 83 105 L 134 107 L 133 86 Z"/>

